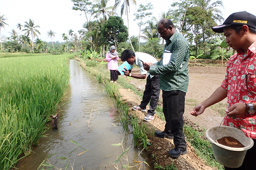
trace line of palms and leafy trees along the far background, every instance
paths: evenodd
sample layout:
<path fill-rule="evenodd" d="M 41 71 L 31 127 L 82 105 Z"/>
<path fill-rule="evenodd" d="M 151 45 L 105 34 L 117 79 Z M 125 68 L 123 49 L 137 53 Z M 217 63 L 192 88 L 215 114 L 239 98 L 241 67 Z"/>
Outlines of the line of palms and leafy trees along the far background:
<path fill-rule="evenodd" d="M 10 32 L 11 37 L 3 39 L 3 43 L 2 37 L 0 37 L 1 50 L 56 54 L 89 50 L 98 51 L 101 56 L 104 56 L 105 50 L 108 50 L 111 45 L 115 45 L 119 52 L 130 49 L 161 57 L 164 41 L 159 36 L 156 27 L 160 19 L 167 18 L 172 20 L 177 30 L 188 39 L 191 58 L 222 57 L 228 59 L 226 54 L 219 52 L 220 48 L 229 51 L 229 47 L 220 45 L 222 42 L 219 40 L 224 39 L 223 36 L 217 35 L 211 30 L 211 27 L 218 25 L 217 22 L 223 21 L 220 10 L 223 7 L 222 0 L 214 2 L 211 0 L 175 0 L 169 4 L 167 12 L 159 14 L 159 18 L 152 17 L 151 11 L 154 7 L 151 3 L 140 4 L 136 13 L 133 14 L 140 29 L 139 35 L 132 37 L 129 37 L 128 34 L 129 16 L 131 15 L 129 11 L 131 4 L 137 5 L 136 0 L 115 0 L 113 6 L 108 6 L 109 0 L 71 1 L 73 2 L 72 9 L 81 11 L 85 15 L 85 23 L 83 28 L 78 31 L 78 35 L 69 30 L 68 35 L 61 34 L 64 43 L 55 43 L 53 39 L 56 33 L 49 30 L 47 36 L 51 38 L 50 45 L 38 38 L 40 26 L 35 25 L 34 20 L 29 19 L 25 25 L 17 24 L 20 35 L 13 29 Z M 120 9 L 119 14 L 116 13 L 118 9 Z M 127 17 L 126 24 L 122 19 L 123 14 Z M 0 31 L 1 27 L 4 28 L 5 25 L 7 25 L 5 15 L 0 15 Z"/>

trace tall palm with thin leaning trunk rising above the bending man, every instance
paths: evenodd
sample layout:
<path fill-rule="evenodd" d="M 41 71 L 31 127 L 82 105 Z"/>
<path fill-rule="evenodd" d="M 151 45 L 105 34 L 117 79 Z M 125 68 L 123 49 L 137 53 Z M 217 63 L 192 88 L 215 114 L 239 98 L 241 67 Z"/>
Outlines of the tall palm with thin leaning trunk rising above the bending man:
<path fill-rule="evenodd" d="M 123 0 L 123 3 L 121 5 L 121 17 L 123 15 L 123 13 L 125 12 L 126 16 L 127 16 L 127 24 L 128 24 L 128 38 L 129 38 L 129 41 L 130 41 L 130 44 L 132 46 L 132 49 L 133 51 L 134 48 L 133 48 L 133 44 L 131 42 L 131 38 L 130 38 L 130 35 L 129 35 L 129 17 L 128 17 L 128 14 L 129 14 L 129 11 L 130 11 L 130 1 L 136 5 L 136 0 Z M 115 11 L 116 8 L 120 5 L 121 3 L 121 0 L 115 0 L 115 5 L 113 7 L 113 10 Z"/>

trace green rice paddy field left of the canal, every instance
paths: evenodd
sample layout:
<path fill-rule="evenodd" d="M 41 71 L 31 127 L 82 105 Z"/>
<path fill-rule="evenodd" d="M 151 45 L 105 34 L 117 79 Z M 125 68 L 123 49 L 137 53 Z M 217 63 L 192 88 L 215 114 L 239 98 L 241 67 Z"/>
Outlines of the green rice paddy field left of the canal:
<path fill-rule="evenodd" d="M 68 55 L 0 53 L 0 170 L 31 153 L 67 91 Z"/>

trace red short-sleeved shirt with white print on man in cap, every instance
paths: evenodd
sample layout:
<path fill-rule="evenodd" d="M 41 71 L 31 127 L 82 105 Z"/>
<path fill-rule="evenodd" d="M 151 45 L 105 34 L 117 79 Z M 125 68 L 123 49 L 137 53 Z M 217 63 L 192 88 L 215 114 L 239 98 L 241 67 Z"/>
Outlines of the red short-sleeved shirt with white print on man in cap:
<path fill-rule="evenodd" d="M 228 92 L 227 108 L 238 102 L 256 102 L 256 42 L 250 45 L 247 55 L 237 50 L 230 57 L 221 86 Z M 256 113 L 252 116 L 245 113 L 236 119 L 226 115 L 223 125 L 239 128 L 247 137 L 256 139 Z"/>

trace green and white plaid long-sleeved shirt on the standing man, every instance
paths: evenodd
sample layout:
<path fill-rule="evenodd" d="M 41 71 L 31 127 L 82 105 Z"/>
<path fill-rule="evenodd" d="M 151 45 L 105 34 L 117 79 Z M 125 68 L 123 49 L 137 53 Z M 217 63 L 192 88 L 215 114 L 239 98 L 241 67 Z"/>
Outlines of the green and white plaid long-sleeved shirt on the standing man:
<path fill-rule="evenodd" d="M 166 40 L 164 53 L 172 53 L 170 62 L 163 65 L 162 59 L 149 68 L 149 74 L 159 75 L 159 88 L 164 91 L 187 92 L 189 86 L 189 43 L 178 31 Z"/>

